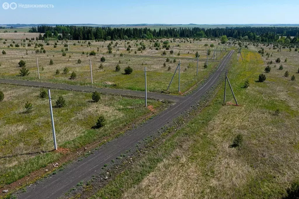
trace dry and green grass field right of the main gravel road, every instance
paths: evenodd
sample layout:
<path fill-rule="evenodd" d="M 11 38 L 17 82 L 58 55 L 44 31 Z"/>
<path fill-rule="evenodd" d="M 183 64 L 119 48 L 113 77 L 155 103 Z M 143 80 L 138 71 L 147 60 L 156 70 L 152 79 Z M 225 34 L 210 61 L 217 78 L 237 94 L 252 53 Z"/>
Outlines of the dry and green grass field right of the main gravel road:
<path fill-rule="evenodd" d="M 297 81 L 272 66 L 266 74 L 270 81 L 256 82 L 266 58 L 244 50 L 245 62 L 236 62 L 235 54 L 228 77 L 239 106 L 222 105 L 223 82 L 210 106 L 93 198 L 286 196 L 299 179 L 298 52 L 282 50 L 279 55 L 288 58 L 284 68 Z M 243 88 L 246 79 L 250 85 Z M 227 91 L 227 101 L 234 102 Z M 233 147 L 238 134 L 243 141 Z"/>

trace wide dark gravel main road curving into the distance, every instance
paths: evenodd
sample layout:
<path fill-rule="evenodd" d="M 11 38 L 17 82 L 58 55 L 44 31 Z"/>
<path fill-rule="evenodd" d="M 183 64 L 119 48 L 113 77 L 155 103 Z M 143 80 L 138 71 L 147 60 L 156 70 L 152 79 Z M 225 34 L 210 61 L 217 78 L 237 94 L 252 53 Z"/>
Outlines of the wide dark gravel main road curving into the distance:
<path fill-rule="evenodd" d="M 154 134 L 167 122 L 171 122 L 188 108 L 196 105 L 200 98 L 216 84 L 233 52 L 232 50 L 225 56 L 215 73 L 192 94 L 177 101 L 171 108 L 161 112 L 147 123 L 107 143 L 105 147 L 95 151 L 80 163 L 71 163 L 65 166 L 64 171 L 27 187 L 27 192 L 19 194 L 18 198 L 59 198 L 81 180 L 89 180 L 93 174 L 100 173 L 104 164 L 109 163 L 124 151 L 134 148 L 138 141 Z"/>

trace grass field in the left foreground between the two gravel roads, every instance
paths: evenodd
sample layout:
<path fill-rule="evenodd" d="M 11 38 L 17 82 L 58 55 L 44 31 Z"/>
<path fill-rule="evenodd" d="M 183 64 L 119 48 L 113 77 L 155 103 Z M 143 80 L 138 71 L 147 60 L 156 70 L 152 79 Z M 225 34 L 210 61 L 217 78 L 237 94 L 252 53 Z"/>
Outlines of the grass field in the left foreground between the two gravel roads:
<path fill-rule="evenodd" d="M 51 151 L 54 144 L 47 97 L 40 99 L 38 88 L 0 85 L 0 90 L 5 96 L 0 108 L 1 187 L 57 161 L 63 153 Z M 65 96 L 63 108 L 55 108 L 59 96 Z M 109 140 L 151 113 L 144 107 L 144 100 L 120 96 L 101 95 L 95 103 L 91 101 L 91 93 L 52 90 L 51 98 L 58 147 L 70 151 Z M 25 111 L 27 101 L 36 105 L 30 112 Z M 148 105 L 156 109 L 162 103 L 149 100 Z M 100 115 L 106 118 L 106 125 L 93 129 Z"/>

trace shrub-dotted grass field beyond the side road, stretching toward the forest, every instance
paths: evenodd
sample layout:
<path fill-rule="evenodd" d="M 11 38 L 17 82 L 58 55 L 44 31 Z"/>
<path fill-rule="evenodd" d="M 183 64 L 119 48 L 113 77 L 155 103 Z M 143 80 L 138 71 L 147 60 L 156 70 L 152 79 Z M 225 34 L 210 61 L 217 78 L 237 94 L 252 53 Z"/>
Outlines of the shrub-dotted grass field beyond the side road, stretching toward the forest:
<path fill-rule="evenodd" d="M 43 47 L 39 48 L 34 48 L 36 41 L 32 41 L 32 45 L 31 47 L 28 47 L 28 52 L 26 54 L 26 47 L 23 47 L 23 41 L 19 41 L 19 44 L 21 45 L 21 47 L 19 48 L 7 48 L 7 45 L 13 44 L 13 42 L 17 43 L 16 40 L 10 39 L 7 40 L 6 44 L 3 44 L 1 48 L 1 51 L 5 50 L 6 54 L 0 55 L 0 78 L 38 81 L 36 67 L 37 56 L 41 81 L 72 85 L 91 85 L 89 66 L 91 59 L 93 82 L 94 86 L 96 87 L 115 88 L 115 86 L 112 85 L 116 84 L 117 88 L 120 89 L 144 91 L 144 67 L 147 66 L 148 90 L 153 92 L 161 92 L 167 89 L 173 73 L 179 61 L 181 61 L 181 91 L 184 92 L 189 90 L 197 82 L 204 79 L 205 75 L 207 75 L 209 71 L 215 68 L 218 64 L 218 62 L 216 61 L 213 62 L 213 60 L 209 60 L 208 68 L 205 69 L 203 67 L 204 63 L 206 62 L 206 50 L 208 48 L 204 46 L 204 44 L 214 44 L 216 46 L 219 41 L 203 39 L 202 41 L 197 42 L 193 39 L 176 39 L 176 41 L 168 39 L 170 49 L 165 50 L 165 48 L 162 48 L 162 42 L 165 40 L 166 39 L 159 40 L 159 44 L 161 47 L 160 50 L 155 50 L 155 47 L 153 47 L 155 42 L 150 42 L 149 40 L 136 40 L 126 42 L 117 41 L 117 50 L 117 46 L 115 45 L 114 41 L 112 44 L 112 53 L 110 54 L 107 53 L 107 45 L 110 43 L 110 41 L 91 42 L 90 46 L 88 45 L 88 41 L 82 43 L 74 41 L 74 44 L 76 45 L 73 45 L 73 43 L 71 43 L 70 41 L 70 52 L 68 52 L 67 43 L 65 41 L 57 42 L 57 48 L 54 48 L 55 41 L 50 41 L 50 45 L 46 45 L 44 42 L 39 41 L 38 43 L 44 45 Z M 29 43 L 29 41 L 27 42 Z M 138 51 L 138 48 L 141 46 L 140 42 L 143 42 L 146 46 L 146 49 L 142 50 L 142 52 Z M 131 50 L 127 51 L 126 48 L 128 48 L 129 45 L 131 46 Z M 173 54 L 170 54 L 170 50 L 173 50 L 173 46 L 176 45 L 180 46 L 174 47 L 173 57 Z M 46 52 L 36 54 L 36 50 L 40 50 L 41 48 L 44 48 Z M 209 59 L 213 55 L 213 48 L 210 49 L 211 54 L 209 56 Z M 62 50 L 66 53 L 66 56 L 62 56 Z M 97 53 L 96 56 L 89 55 L 92 50 Z M 161 54 L 164 50 L 167 54 L 162 56 Z M 198 76 L 196 76 L 196 51 L 199 51 L 200 55 Z M 85 54 L 83 54 L 83 52 Z M 180 53 L 179 56 L 178 53 Z M 120 56 L 121 54 L 123 56 Z M 100 59 L 103 56 L 105 57 L 106 61 L 100 62 Z M 223 53 L 220 55 L 219 46 L 217 60 L 219 61 L 222 56 Z M 22 59 L 22 57 L 26 61 L 27 68 L 30 70 L 30 74 L 25 77 L 19 76 L 20 68 L 18 67 L 18 62 Z M 169 59 L 169 62 L 166 62 L 167 58 Z M 49 64 L 50 59 L 53 60 L 53 65 Z M 81 60 L 81 63 L 77 62 L 78 59 Z M 103 68 L 99 68 L 101 64 L 103 64 Z M 115 71 L 115 67 L 117 64 L 119 64 L 120 66 L 119 72 Z M 124 68 L 126 68 L 128 65 L 133 68 L 133 73 L 130 75 L 124 75 Z M 70 69 L 67 74 L 63 74 L 63 69 L 65 67 Z M 58 75 L 56 75 L 57 69 L 60 71 L 60 74 Z M 77 78 L 74 80 L 70 79 L 70 75 L 73 71 L 77 74 Z M 170 87 L 169 92 L 172 94 L 177 94 L 177 87 L 178 73 L 174 78 L 174 82 Z"/>

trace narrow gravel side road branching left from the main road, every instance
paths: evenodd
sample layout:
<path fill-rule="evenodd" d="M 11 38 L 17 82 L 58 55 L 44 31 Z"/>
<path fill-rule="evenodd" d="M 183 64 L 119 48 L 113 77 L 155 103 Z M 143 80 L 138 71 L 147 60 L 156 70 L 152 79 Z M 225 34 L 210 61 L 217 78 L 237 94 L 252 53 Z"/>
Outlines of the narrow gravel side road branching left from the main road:
<path fill-rule="evenodd" d="M 109 88 L 92 88 L 88 86 L 74 86 L 67 84 L 56 84 L 56 83 L 48 83 L 48 82 L 37 82 L 37 81 L 26 81 L 26 80 L 16 80 L 16 79 L 0 79 L 0 83 L 2 84 L 12 84 L 12 85 L 20 85 L 20 86 L 32 86 L 32 87 L 41 87 L 48 89 L 59 89 L 59 90 L 69 90 L 69 91 L 79 91 L 79 92 L 93 92 L 98 91 L 104 94 L 114 94 L 121 95 L 124 97 L 138 97 L 143 98 L 143 91 L 129 91 L 129 90 L 119 90 L 119 89 L 109 89 Z M 148 99 L 158 99 L 158 100 L 170 100 L 176 101 L 181 99 L 182 97 L 160 94 L 160 93 L 151 93 L 147 92 Z"/>

